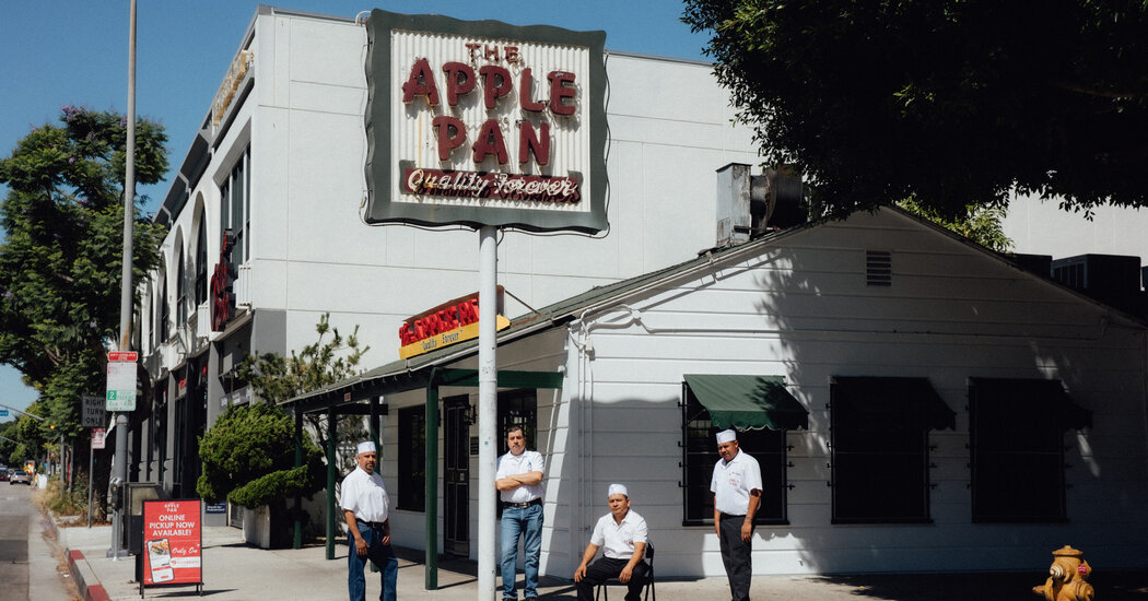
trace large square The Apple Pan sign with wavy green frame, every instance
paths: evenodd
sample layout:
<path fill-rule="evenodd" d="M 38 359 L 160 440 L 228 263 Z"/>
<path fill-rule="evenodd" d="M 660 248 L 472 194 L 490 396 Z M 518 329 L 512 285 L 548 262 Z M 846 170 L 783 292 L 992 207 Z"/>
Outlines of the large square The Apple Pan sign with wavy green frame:
<path fill-rule="evenodd" d="M 373 10 L 369 223 L 600 232 L 602 31 Z"/>

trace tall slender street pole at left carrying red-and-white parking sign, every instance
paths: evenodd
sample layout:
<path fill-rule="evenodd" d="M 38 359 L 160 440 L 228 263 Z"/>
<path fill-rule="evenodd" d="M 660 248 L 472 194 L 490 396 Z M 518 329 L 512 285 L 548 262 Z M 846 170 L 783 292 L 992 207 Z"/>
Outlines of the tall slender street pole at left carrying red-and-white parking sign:
<path fill-rule="evenodd" d="M 127 21 L 127 148 L 124 169 L 124 255 L 123 282 L 119 289 L 119 350 L 126 351 L 132 342 L 132 220 L 135 217 L 135 0 L 131 0 Z M 116 460 L 113 477 L 123 486 L 127 476 L 127 414 L 116 414 Z M 111 520 L 111 556 L 119 560 L 123 540 L 121 523 L 124 509 L 121 504 Z"/>

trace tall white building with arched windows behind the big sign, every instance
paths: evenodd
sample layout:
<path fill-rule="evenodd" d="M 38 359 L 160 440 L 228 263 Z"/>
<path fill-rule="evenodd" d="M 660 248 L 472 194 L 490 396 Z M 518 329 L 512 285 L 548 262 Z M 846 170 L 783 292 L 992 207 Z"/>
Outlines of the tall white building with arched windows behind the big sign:
<path fill-rule="evenodd" d="M 343 333 L 360 326 L 365 360 L 381 365 L 398 357 L 405 319 L 478 289 L 471 228 L 363 220 L 366 44 L 351 18 L 270 7 L 253 18 L 155 218 L 170 231 L 134 328 L 153 395 L 132 437 L 131 479 L 194 494 L 195 436 L 248 398 L 231 377 L 246 354 L 315 342 L 329 312 Z M 751 132 L 731 125 L 711 65 L 618 53 L 604 62 L 611 227 L 595 236 L 505 231 L 509 314 L 714 245 L 714 170 L 754 162 Z M 230 262 L 220 260 L 225 229 L 235 239 Z M 214 331 L 212 275 L 227 263 L 234 310 Z"/>

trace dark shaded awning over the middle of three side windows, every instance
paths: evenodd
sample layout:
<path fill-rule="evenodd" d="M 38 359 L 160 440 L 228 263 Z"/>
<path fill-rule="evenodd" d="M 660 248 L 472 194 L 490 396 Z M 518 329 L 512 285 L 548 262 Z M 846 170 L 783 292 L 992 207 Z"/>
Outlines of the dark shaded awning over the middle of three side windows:
<path fill-rule="evenodd" d="M 881 419 L 886 427 L 956 430 L 948 408 L 925 377 L 833 377 L 833 403 L 847 399 L 853 413 Z"/>

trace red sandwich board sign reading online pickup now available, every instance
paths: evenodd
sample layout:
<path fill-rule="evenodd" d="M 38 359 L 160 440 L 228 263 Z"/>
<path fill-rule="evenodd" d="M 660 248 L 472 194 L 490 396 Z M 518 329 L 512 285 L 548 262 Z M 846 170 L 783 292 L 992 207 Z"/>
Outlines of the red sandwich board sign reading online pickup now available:
<path fill-rule="evenodd" d="M 203 587 L 203 523 L 199 499 L 144 501 L 145 586 Z"/>

